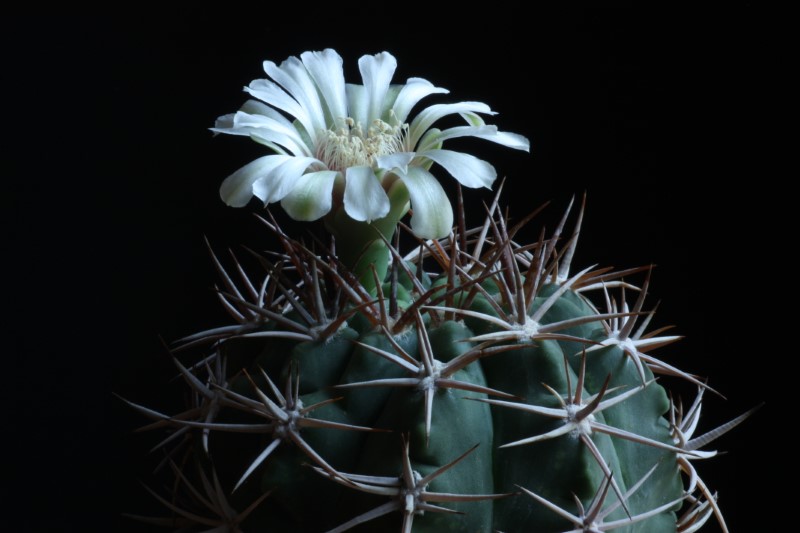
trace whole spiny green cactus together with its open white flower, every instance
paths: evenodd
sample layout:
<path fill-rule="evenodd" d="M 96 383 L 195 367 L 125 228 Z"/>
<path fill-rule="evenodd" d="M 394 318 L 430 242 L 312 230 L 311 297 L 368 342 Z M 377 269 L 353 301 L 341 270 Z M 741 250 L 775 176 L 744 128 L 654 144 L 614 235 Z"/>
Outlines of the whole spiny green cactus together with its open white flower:
<path fill-rule="evenodd" d="M 251 252 L 255 268 L 209 246 L 234 323 L 170 347 L 184 411 L 128 402 L 166 430 L 171 487 L 151 490 L 169 516 L 136 518 L 181 531 L 691 532 L 714 517 L 727 531 L 692 461 L 749 413 L 693 437 L 715 391 L 653 355 L 679 337 L 648 329 L 650 269 L 573 271 L 585 201 L 521 244 L 536 212 L 511 225 L 498 191 L 467 229 L 459 188 L 454 224 L 432 164 L 468 187 L 495 173 L 442 144 L 527 141 L 486 125 L 475 102 L 407 124 L 445 91 L 390 86 L 393 62 L 363 57 L 364 85 L 346 91 L 330 50 L 265 63 L 277 83 L 247 90 L 269 105 L 218 120 L 276 152 L 232 174 L 223 199 L 281 201 L 331 238 L 303 242 L 268 214 L 280 249 Z M 467 125 L 432 128 L 446 114 Z M 675 379 L 698 389 L 686 411 L 665 389 Z"/>

